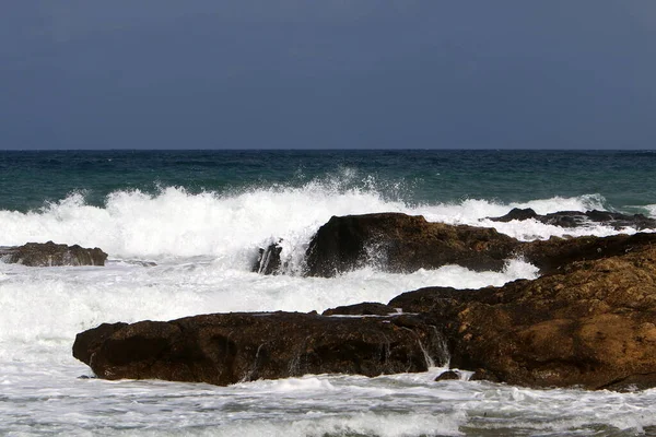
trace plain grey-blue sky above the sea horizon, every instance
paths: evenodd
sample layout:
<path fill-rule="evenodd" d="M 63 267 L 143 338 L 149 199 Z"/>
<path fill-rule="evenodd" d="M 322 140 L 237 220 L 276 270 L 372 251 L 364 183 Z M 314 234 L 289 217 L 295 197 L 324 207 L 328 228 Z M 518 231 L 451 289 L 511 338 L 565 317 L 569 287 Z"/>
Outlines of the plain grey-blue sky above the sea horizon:
<path fill-rule="evenodd" d="M 654 0 L 20 0 L 0 150 L 656 149 Z"/>

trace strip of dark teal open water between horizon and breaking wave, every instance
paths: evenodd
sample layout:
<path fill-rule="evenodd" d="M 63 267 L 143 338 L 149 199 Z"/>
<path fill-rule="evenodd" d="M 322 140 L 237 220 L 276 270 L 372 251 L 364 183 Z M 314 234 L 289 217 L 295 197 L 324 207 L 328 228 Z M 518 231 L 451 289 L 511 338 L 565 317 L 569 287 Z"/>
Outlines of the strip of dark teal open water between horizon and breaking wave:
<path fill-rule="evenodd" d="M 0 209 L 27 211 L 81 192 L 183 187 L 190 193 L 301 187 L 373 189 L 407 204 L 502 203 L 599 194 L 609 210 L 656 204 L 656 153 L 622 151 L 102 151 L 0 152 Z"/>

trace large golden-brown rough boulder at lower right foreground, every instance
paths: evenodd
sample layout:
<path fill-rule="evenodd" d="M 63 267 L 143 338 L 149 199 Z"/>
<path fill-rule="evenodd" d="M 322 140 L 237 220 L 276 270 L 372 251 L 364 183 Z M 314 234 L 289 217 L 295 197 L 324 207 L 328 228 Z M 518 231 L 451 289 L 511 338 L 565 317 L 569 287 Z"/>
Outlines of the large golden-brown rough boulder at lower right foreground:
<path fill-rule="evenodd" d="M 450 366 L 528 387 L 656 387 L 656 246 L 503 287 L 423 288 L 393 307 L 444 331 Z"/>

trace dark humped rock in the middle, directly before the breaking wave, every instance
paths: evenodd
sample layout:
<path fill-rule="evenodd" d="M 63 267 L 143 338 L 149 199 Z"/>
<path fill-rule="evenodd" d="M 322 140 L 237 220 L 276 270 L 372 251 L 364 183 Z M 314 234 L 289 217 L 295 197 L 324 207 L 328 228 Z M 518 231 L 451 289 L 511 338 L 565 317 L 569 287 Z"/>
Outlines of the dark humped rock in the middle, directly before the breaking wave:
<path fill-rule="evenodd" d="M 656 234 L 645 233 L 519 241 L 493 228 L 379 213 L 331 217 L 309 243 L 306 260 L 308 275 L 325 277 L 371 264 L 394 273 L 446 264 L 500 271 L 513 257 L 522 257 L 548 274 L 574 261 L 617 256 L 652 244 L 656 244 Z"/>

